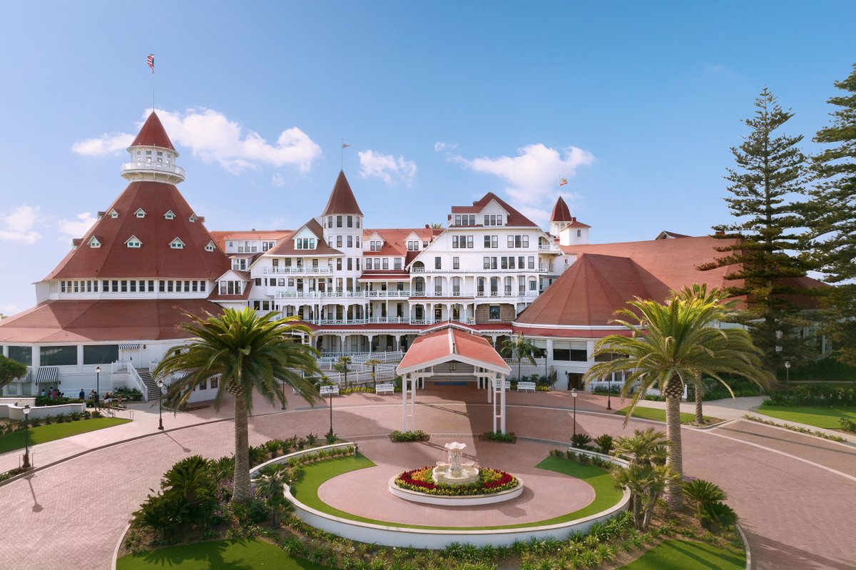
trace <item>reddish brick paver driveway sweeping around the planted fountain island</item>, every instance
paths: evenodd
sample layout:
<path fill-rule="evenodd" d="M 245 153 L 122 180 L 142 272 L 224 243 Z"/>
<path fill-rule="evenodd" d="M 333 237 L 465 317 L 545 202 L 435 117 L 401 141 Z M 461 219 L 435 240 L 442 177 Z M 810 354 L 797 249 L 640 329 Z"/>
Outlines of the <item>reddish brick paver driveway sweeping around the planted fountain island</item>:
<path fill-rule="evenodd" d="M 422 392 L 418 427 L 435 434 L 488 430 L 490 408 L 483 396 L 472 389 Z M 373 395 L 338 398 L 336 431 L 356 438 L 389 433 L 401 427 L 398 401 Z M 567 394 L 514 394 L 509 404 L 510 430 L 568 441 L 572 419 Z M 589 395 L 578 401 L 577 430 L 593 436 L 620 435 L 648 425 L 633 421 L 624 428 L 620 417 L 586 409 L 602 412 L 603 401 Z M 165 422 L 169 428 L 169 419 Z M 324 407 L 257 416 L 251 423 L 251 442 L 324 433 L 328 422 Z M 225 421 L 119 443 L 0 487 L 0 567 L 109 568 L 130 514 L 163 472 L 188 454 L 229 454 L 232 430 L 231 421 Z M 728 492 L 758 568 L 856 567 L 856 478 L 850 474 L 856 450 L 745 421 L 716 430 L 684 430 L 684 445 L 687 474 L 709 478 Z M 551 447 L 544 443 L 544 454 Z"/>

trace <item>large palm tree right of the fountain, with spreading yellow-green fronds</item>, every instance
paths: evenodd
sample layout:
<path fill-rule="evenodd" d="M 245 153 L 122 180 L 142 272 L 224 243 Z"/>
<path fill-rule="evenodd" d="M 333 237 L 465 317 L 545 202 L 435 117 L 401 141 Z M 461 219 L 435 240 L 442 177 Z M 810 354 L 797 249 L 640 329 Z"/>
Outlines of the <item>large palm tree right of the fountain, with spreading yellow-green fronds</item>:
<path fill-rule="evenodd" d="M 592 358 L 615 354 L 618 358 L 592 365 L 584 377 L 591 382 L 613 372 L 625 372 L 626 381 L 621 396 L 628 397 L 633 384 L 630 419 L 639 400 L 650 388 L 658 388 L 666 397 L 666 436 L 669 440 L 668 465 L 679 476 L 670 480 L 666 493 L 672 508 L 681 508 L 683 454 L 681 449 L 681 396 L 687 383 L 699 377 L 715 378 L 728 388 L 722 375 L 745 377 L 766 385 L 774 381 L 764 370 L 763 353 L 752 344 L 752 338 L 742 329 L 715 329 L 728 314 L 727 307 L 706 298 L 681 299 L 673 296 L 664 304 L 638 297 L 629 301 L 629 309 L 616 314 L 635 321 L 617 319 L 627 327 L 630 336 L 609 335 L 597 341 Z M 728 388 L 730 391 L 731 389 Z"/>

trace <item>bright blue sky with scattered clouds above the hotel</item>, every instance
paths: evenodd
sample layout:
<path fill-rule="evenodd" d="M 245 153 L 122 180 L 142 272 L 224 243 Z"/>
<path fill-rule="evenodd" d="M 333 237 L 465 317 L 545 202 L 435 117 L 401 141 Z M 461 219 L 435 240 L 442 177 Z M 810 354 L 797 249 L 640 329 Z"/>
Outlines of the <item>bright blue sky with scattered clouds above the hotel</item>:
<path fill-rule="evenodd" d="M 149 53 L 208 229 L 317 215 L 344 138 L 369 227 L 445 222 L 488 191 L 545 222 L 563 175 L 597 242 L 727 222 L 728 149 L 758 92 L 814 151 L 856 62 L 852 2 L 597 4 L 8 3 L 0 312 L 33 305 L 125 186 Z"/>

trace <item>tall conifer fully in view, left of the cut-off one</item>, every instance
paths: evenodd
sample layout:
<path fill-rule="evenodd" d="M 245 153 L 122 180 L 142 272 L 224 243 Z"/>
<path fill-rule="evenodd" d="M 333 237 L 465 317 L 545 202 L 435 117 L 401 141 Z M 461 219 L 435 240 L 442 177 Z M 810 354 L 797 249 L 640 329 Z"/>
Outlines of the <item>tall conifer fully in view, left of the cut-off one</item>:
<path fill-rule="evenodd" d="M 735 266 L 725 276 L 734 283 L 728 293 L 749 300 L 735 320 L 749 327 L 755 345 L 764 350 L 768 369 L 775 370 L 782 354 L 793 359 L 818 352 L 814 339 L 804 341 L 790 333 L 811 324 L 794 304 L 794 295 L 805 295 L 805 289 L 793 282 L 794 277 L 805 276 L 811 264 L 792 254 L 804 244 L 798 230 L 805 223 L 797 198 L 805 193 L 807 159 L 798 146 L 801 135 L 776 135 L 794 113 L 782 110 L 766 87 L 755 106 L 754 116 L 744 120 L 749 134 L 731 149 L 736 168 L 728 169 L 725 177 L 730 182 L 725 201 L 735 221 L 714 228 L 716 237 L 738 241 L 718 247 L 728 254 L 699 269 Z M 784 335 L 777 338 L 777 331 Z M 777 346 L 782 351 L 776 351 Z"/>

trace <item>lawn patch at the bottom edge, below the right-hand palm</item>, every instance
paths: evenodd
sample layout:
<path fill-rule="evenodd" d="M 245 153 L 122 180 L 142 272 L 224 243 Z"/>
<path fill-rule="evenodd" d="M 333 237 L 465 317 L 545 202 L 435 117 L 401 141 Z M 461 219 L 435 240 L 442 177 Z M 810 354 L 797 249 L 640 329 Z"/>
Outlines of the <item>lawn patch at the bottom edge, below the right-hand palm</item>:
<path fill-rule="evenodd" d="M 689 540 L 667 540 L 648 550 L 624 570 L 743 570 L 746 553 L 742 549 L 721 549 L 712 544 Z"/>

